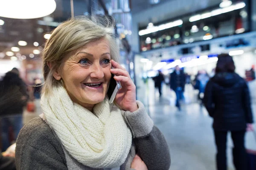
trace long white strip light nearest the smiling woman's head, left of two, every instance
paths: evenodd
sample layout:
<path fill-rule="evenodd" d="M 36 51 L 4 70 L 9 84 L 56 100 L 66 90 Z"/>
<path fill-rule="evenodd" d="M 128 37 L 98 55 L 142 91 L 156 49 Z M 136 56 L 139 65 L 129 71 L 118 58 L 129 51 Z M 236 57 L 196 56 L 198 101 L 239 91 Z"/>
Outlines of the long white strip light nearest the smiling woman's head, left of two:
<path fill-rule="evenodd" d="M 176 21 L 173 21 L 170 23 L 162 24 L 160 26 L 153 26 L 151 28 L 140 30 L 139 35 L 142 36 L 142 35 L 150 34 L 150 33 L 157 32 L 157 31 L 160 31 L 163 29 L 169 29 L 169 28 L 172 28 L 175 26 L 180 26 L 182 24 L 183 24 L 182 20 L 176 20 Z"/>

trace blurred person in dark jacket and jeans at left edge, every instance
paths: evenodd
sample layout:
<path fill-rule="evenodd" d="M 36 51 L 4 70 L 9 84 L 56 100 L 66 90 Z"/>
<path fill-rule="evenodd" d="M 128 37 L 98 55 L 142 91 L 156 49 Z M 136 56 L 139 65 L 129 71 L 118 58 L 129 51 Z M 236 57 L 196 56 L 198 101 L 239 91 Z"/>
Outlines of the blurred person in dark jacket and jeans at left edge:
<path fill-rule="evenodd" d="M 14 133 L 12 136 L 14 140 L 17 139 L 23 127 L 23 107 L 26 106 L 29 95 L 26 84 L 20 78 L 17 68 L 6 73 L 0 86 L 2 151 L 5 151 L 11 145 L 10 127 Z"/>

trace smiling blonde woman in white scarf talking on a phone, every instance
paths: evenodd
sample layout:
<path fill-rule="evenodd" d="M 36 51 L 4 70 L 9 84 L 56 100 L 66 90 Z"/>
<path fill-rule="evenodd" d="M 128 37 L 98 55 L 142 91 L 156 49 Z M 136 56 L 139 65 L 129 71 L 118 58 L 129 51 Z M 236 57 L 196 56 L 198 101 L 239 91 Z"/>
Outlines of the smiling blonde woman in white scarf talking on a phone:
<path fill-rule="evenodd" d="M 43 53 L 43 114 L 20 131 L 18 170 L 169 169 L 166 140 L 136 101 L 109 30 L 77 17 L 52 32 Z M 106 96 L 111 73 L 122 85 L 115 104 Z"/>

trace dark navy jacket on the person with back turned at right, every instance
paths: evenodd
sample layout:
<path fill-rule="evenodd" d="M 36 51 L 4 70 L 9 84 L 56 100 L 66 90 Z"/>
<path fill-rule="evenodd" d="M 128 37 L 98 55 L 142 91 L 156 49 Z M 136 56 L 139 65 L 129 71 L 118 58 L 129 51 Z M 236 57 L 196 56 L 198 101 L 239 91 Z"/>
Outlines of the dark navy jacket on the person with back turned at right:
<path fill-rule="evenodd" d="M 236 73 L 218 73 L 205 89 L 204 105 L 214 130 L 245 130 L 253 123 L 249 89 Z"/>

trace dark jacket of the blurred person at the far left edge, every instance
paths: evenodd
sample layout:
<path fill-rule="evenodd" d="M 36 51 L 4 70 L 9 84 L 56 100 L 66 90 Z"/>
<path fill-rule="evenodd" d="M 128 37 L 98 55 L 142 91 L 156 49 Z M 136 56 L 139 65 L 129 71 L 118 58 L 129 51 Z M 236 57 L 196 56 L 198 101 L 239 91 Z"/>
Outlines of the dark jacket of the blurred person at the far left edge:
<path fill-rule="evenodd" d="M 13 72 L 7 72 L 0 81 L 0 115 L 21 114 L 28 99 L 27 87 L 22 79 Z"/>

